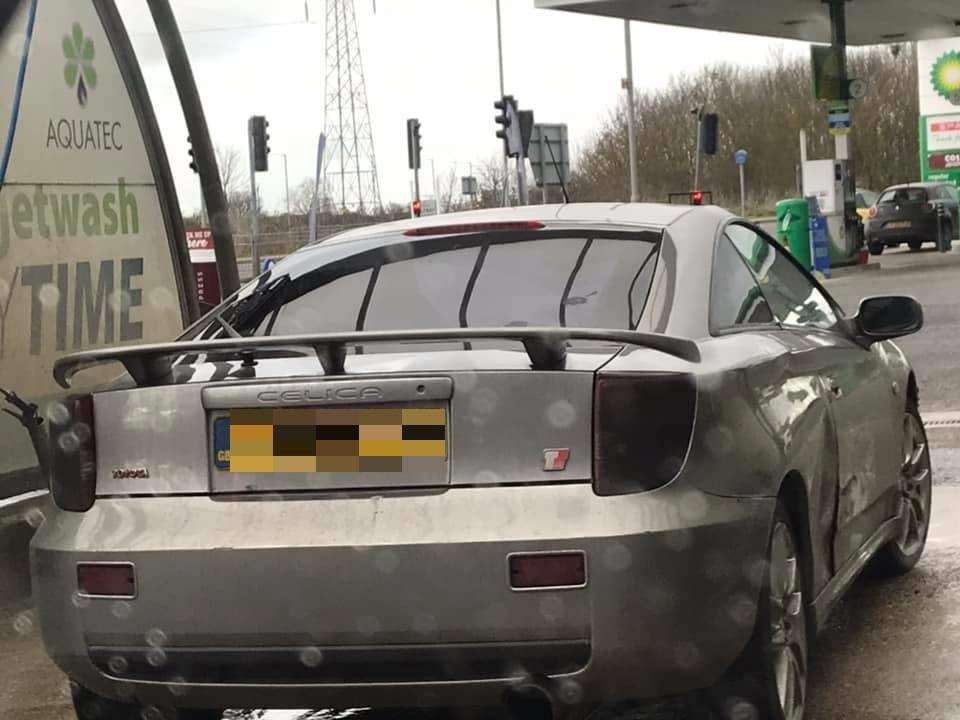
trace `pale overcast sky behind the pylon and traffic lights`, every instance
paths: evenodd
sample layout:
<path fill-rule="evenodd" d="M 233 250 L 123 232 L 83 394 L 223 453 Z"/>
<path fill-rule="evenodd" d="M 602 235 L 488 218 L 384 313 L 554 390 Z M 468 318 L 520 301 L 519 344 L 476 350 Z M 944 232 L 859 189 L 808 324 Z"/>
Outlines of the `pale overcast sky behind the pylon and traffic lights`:
<path fill-rule="evenodd" d="M 185 213 L 200 203 L 189 169 L 187 130 L 143 0 L 118 0 L 160 123 Z M 267 210 L 284 208 L 283 154 L 291 188 L 314 172 L 323 131 L 325 0 L 173 0 L 207 122 L 218 145 L 247 168 L 250 115 L 270 122 L 270 171 L 257 176 Z M 422 124 L 426 177 L 497 155 L 493 102 L 499 97 L 495 0 L 355 0 L 367 99 L 383 202 L 407 202 L 408 117 Z M 506 91 L 537 122 L 569 126 L 574 161 L 616 104 L 624 75 L 623 24 L 502 0 Z M 671 76 L 718 61 L 762 64 L 796 42 L 633 24 L 634 82 L 660 87 Z M 686 118 L 683 118 L 686 120 Z M 244 172 L 246 177 L 246 172 Z"/>

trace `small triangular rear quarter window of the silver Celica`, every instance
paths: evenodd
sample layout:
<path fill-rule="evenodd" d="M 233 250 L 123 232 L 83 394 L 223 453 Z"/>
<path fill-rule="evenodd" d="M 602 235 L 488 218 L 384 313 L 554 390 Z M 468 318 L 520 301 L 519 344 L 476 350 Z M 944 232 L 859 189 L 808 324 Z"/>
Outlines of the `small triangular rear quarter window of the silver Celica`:
<path fill-rule="evenodd" d="M 720 238 L 710 285 L 710 328 L 730 330 L 774 322 L 773 311 L 730 240 Z"/>

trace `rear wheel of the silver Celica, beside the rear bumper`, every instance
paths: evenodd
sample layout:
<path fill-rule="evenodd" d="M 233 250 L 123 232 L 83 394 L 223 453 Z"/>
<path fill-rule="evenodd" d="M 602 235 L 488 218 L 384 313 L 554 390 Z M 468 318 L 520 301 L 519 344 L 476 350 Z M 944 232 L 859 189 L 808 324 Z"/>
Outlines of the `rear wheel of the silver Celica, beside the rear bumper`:
<path fill-rule="evenodd" d="M 727 680 L 713 691 L 723 720 L 802 720 L 808 671 L 807 597 L 801 546 L 777 502 L 753 637 Z"/>

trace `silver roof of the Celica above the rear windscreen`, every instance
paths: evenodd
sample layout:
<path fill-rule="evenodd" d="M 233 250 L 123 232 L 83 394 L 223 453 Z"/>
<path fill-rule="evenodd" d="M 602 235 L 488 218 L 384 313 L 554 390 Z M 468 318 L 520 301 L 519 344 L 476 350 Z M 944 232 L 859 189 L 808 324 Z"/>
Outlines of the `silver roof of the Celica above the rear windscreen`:
<path fill-rule="evenodd" d="M 322 241 L 325 246 L 364 240 L 381 235 L 400 235 L 417 228 L 469 223 L 539 220 L 546 225 L 637 225 L 650 229 L 668 228 L 691 214 L 733 217 L 716 206 L 668 205 L 663 203 L 569 203 L 566 205 L 525 205 L 511 208 L 468 210 L 427 217 L 379 223 L 347 230 Z M 315 247 L 315 246 L 314 246 Z"/>

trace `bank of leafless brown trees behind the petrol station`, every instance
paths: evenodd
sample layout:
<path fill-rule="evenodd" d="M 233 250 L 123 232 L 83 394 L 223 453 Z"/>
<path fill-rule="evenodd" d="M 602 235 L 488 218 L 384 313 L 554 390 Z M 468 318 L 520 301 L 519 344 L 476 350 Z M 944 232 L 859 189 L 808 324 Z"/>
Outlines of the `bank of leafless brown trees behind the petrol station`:
<path fill-rule="evenodd" d="M 858 184 L 880 190 L 916 179 L 919 156 L 915 48 L 894 56 L 873 48 L 851 53 L 853 77 L 869 77 L 871 91 L 854 104 L 851 141 Z M 811 158 L 833 157 L 826 103 L 813 98 L 809 63 L 772 53 L 766 65 L 744 68 L 717 64 L 694 75 L 673 78 L 665 87 L 636 98 L 640 191 L 645 200 L 664 202 L 668 193 L 693 187 L 696 154 L 694 105 L 720 115 L 716 157 L 706 158 L 701 187 L 714 201 L 739 206 L 739 177 L 733 154 L 750 153 L 748 210 L 766 213 L 778 199 L 796 194 L 800 162 L 798 136 L 807 133 Z M 626 200 L 626 103 L 599 123 L 571 178 L 577 200 Z"/>

